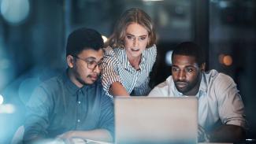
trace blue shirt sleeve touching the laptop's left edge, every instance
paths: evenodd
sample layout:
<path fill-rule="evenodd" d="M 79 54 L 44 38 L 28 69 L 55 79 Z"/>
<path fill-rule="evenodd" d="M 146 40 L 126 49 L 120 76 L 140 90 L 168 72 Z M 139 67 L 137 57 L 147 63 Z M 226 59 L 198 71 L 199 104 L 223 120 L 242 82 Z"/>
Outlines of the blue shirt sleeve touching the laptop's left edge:
<path fill-rule="evenodd" d="M 113 101 L 109 96 L 102 93 L 101 116 L 99 127 L 108 130 L 114 138 Z"/>

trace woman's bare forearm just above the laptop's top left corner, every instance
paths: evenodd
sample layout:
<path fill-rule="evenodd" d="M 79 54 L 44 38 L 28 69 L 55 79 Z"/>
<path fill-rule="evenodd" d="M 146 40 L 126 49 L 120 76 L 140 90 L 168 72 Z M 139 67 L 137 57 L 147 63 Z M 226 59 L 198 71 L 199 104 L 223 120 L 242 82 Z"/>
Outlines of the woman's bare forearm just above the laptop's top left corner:
<path fill-rule="evenodd" d="M 109 94 L 113 96 L 129 96 L 128 91 L 119 82 L 114 82 L 109 88 Z"/>

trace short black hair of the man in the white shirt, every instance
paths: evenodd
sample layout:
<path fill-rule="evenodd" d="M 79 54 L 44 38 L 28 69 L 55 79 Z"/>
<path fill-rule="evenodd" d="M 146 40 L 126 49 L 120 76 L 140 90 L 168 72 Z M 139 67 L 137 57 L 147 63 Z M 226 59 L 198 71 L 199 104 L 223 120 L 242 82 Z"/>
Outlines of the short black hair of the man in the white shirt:
<path fill-rule="evenodd" d="M 174 55 L 195 57 L 195 62 L 198 64 L 198 66 L 201 66 L 206 62 L 205 54 L 203 53 L 201 47 L 198 46 L 195 42 L 181 42 L 173 50 L 172 61 Z"/>

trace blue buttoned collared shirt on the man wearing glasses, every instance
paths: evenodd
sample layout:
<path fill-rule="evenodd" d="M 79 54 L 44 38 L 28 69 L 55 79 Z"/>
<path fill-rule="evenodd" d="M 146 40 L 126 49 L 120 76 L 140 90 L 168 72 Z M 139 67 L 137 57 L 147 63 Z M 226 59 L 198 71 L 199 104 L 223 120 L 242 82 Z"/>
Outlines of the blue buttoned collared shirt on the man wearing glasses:
<path fill-rule="evenodd" d="M 26 106 L 25 141 L 98 128 L 113 134 L 113 102 L 100 81 L 79 88 L 65 72 L 37 87 Z"/>

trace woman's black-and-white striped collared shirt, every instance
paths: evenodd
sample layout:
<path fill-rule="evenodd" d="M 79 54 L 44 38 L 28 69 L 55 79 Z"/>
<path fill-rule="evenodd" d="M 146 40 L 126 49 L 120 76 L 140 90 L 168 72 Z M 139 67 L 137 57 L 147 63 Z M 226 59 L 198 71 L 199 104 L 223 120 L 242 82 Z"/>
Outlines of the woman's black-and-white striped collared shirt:
<path fill-rule="evenodd" d="M 156 61 L 157 48 L 152 46 L 143 51 L 139 70 L 132 67 L 127 54 L 122 48 L 105 49 L 103 60 L 102 85 L 110 97 L 109 87 L 114 82 L 120 82 L 132 95 L 147 95 L 150 92 L 149 75 Z"/>

